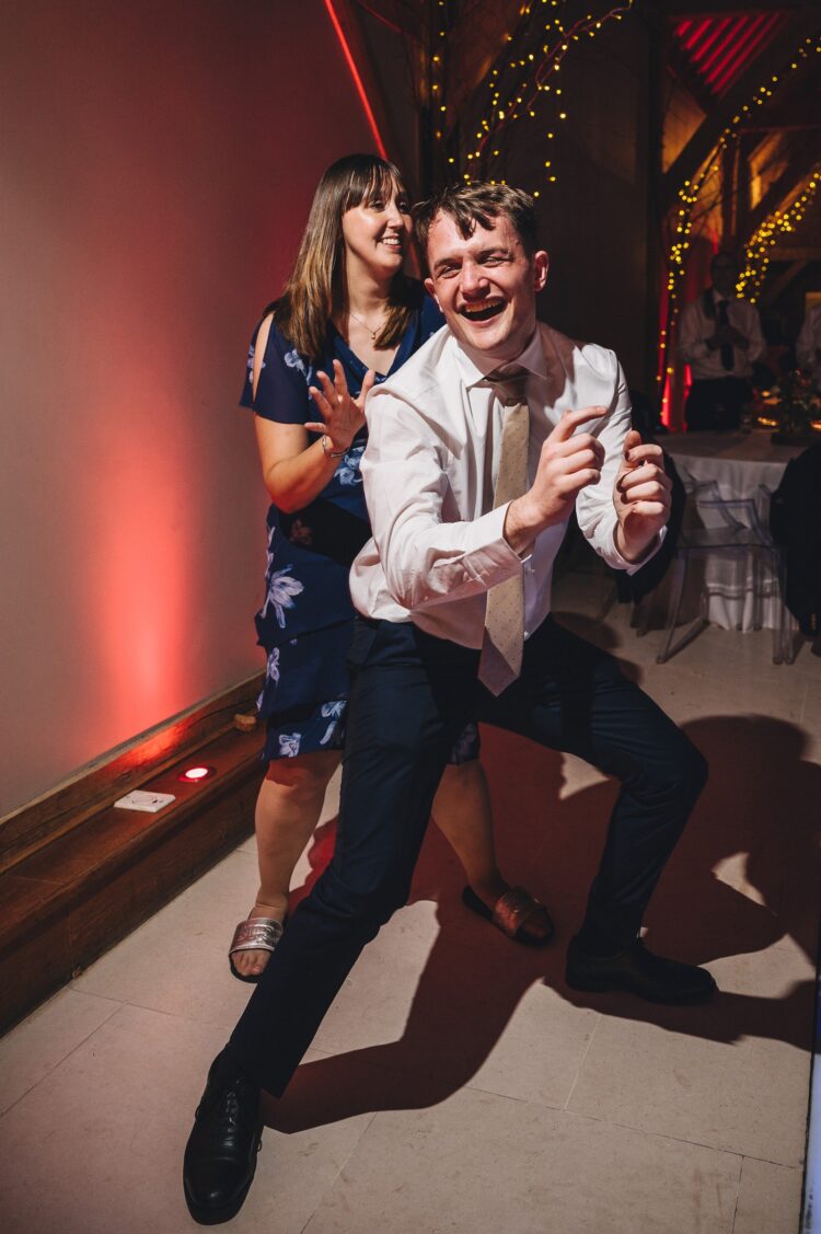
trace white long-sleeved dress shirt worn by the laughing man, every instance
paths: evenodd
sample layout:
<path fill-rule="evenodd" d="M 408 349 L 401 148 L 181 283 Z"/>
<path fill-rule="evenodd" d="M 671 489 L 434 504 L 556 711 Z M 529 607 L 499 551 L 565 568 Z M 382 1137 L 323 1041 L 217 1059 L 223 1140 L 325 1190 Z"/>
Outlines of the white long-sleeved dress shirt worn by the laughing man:
<path fill-rule="evenodd" d="M 637 570 L 614 539 L 612 487 L 630 428 L 616 357 L 540 325 L 515 363 L 530 373 L 530 482 L 542 443 L 564 411 L 596 404 L 609 408 L 577 429 L 595 433 L 606 458 L 600 482 L 581 490 L 575 511 L 605 561 Z M 353 603 L 365 617 L 412 621 L 430 634 L 472 648 L 481 647 L 485 592 L 519 571 L 525 575 L 525 637 L 543 622 L 567 527 L 565 521 L 543 531 L 525 560 L 502 536 L 507 505 L 494 510 L 493 492 L 504 407 L 485 378 L 494 366 L 486 357 L 468 353 L 443 327 L 372 390 L 362 478 L 373 538 L 351 570 Z"/>

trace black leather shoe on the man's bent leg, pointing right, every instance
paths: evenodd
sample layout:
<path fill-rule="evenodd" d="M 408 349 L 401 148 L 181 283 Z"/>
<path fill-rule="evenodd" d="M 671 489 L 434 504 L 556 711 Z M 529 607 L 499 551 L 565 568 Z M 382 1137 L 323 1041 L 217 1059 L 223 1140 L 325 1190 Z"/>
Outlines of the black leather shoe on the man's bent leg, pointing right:
<path fill-rule="evenodd" d="M 653 955 L 640 939 L 626 951 L 604 956 L 588 955 L 572 939 L 564 975 L 573 990 L 627 990 L 661 1003 L 705 1002 L 719 988 L 706 969 Z"/>

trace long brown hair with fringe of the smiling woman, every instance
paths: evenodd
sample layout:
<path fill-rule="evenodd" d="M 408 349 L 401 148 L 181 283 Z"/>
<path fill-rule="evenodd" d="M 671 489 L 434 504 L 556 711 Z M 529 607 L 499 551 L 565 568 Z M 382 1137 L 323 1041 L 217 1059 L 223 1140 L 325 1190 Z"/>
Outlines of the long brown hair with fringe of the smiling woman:
<path fill-rule="evenodd" d="M 363 201 L 390 197 L 394 191 L 405 191 L 399 169 L 375 154 L 337 159 L 316 188 L 294 269 L 280 299 L 270 306 L 277 327 L 311 360 L 323 349 L 328 320 L 346 307 L 342 215 Z M 399 342 L 412 301 L 412 285 L 400 271 L 393 280 L 388 317 L 374 347 Z"/>

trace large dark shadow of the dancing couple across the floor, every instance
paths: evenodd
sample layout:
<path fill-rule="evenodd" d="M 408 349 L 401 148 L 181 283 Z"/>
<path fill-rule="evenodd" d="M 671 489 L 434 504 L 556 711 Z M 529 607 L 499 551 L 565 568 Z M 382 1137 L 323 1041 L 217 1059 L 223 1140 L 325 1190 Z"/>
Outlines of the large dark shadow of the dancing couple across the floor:
<path fill-rule="evenodd" d="M 821 769 L 802 761 L 804 734 L 769 717 L 712 717 L 684 728 L 714 774 L 651 906 L 648 942 L 663 954 L 702 963 L 783 945 L 790 935 L 812 955 L 819 855 L 807 803 L 819 800 Z M 725 991 L 691 1008 L 569 990 L 564 944 L 581 919 L 616 786 L 599 781 L 563 796 L 561 755 L 493 729 L 484 732 L 484 749 L 501 865 L 528 871 L 528 885 L 556 917 L 557 942 L 532 951 L 470 917 L 459 902 L 456 863 L 431 829 L 411 901 L 436 901 L 440 929 L 401 1038 L 302 1065 L 272 1107 L 272 1127 L 291 1132 L 364 1111 L 443 1101 L 481 1067 L 493 1069 L 489 1059 L 521 1000 L 541 986 L 559 998 L 546 991 L 540 1032 L 525 1066 L 517 1066 L 523 1095 L 528 1086 L 540 1088 L 548 1104 L 551 1087 L 559 1091 L 564 1082 L 562 1067 L 573 1065 L 562 1053 L 568 1016 L 589 1017 L 578 1024 L 581 1041 L 600 1013 L 716 1041 L 757 1035 L 809 1046 L 810 979 L 795 982 L 785 997 Z M 326 827 L 317 834 L 316 868 L 305 890 L 319 876 L 319 861 L 330 856 L 331 832 Z M 746 859 L 738 856 L 743 853 Z M 731 874 L 736 886 L 725 881 Z M 516 1048 L 521 1059 L 521 1040 Z"/>

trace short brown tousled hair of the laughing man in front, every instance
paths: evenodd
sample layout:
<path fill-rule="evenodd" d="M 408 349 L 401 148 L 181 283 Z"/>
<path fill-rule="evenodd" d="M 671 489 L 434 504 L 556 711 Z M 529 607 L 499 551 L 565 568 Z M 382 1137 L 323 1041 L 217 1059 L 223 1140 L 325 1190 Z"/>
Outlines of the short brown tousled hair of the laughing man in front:
<path fill-rule="evenodd" d="M 477 226 L 490 230 L 501 215 L 516 231 L 528 257 L 538 247 L 533 199 L 522 189 L 511 189 L 509 184 L 457 184 L 442 189 L 427 201 L 420 201 L 414 210 L 414 222 L 423 257 L 427 254 L 431 223 L 438 213 L 448 215 L 464 239 L 473 236 Z"/>

